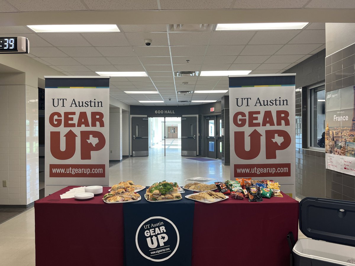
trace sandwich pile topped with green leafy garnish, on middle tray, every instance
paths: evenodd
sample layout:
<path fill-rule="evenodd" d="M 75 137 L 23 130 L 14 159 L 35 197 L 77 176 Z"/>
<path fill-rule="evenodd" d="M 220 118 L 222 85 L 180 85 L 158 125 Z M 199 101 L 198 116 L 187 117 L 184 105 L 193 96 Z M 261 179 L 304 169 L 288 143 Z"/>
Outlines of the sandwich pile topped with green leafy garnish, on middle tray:
<path fill-rule="evenodd" d="M 178 183 L 166 182 L 165 180 L 151 185 L 146 192 L 146 199 L 149 201 L 179 200 L 182 199 L 178 192 Z"/>

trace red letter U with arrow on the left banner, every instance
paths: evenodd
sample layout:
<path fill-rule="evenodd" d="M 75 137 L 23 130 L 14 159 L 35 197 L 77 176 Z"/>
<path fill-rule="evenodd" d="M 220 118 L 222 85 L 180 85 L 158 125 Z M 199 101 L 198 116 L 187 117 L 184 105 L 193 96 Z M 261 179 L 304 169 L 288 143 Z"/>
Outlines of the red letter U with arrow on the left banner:
<path fill-rule="evenodd" d="M 75 154 L 75 142 L 77 135 L 69 130 L 65 135 L 65 150 L 60 149 L 60 132 L 50 132 L 50 153 L 58 160 L 68 160 Z"/>

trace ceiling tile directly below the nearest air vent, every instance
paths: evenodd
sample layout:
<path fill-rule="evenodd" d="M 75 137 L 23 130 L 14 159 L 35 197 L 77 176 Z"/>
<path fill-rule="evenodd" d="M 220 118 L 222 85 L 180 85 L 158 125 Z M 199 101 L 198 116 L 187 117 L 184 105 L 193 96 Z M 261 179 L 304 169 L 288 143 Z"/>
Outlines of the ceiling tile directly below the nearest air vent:
<path fill-rule="evenodd" d="M 170 32 L 170 45 L 206 45 L 211 32 Z"/>

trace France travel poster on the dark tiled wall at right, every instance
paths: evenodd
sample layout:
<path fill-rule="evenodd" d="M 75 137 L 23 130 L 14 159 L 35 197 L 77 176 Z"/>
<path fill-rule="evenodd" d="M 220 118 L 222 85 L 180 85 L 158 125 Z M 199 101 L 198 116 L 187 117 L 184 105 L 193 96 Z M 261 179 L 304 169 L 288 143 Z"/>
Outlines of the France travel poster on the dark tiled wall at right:
<path fill-rule="evenodd" d="M 327 169 L 355 175 L 355 86 L 326 93 Z"/>

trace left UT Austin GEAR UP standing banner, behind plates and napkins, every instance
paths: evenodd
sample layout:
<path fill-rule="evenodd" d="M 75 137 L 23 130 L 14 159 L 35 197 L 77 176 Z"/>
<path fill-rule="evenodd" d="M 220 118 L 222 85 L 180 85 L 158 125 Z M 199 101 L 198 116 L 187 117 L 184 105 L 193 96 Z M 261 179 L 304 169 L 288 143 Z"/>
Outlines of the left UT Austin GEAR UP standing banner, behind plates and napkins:
<path fill-rule="evenodd" d="M 45 184 L 109 184 L 109 78 L 45 77 Z"/>

